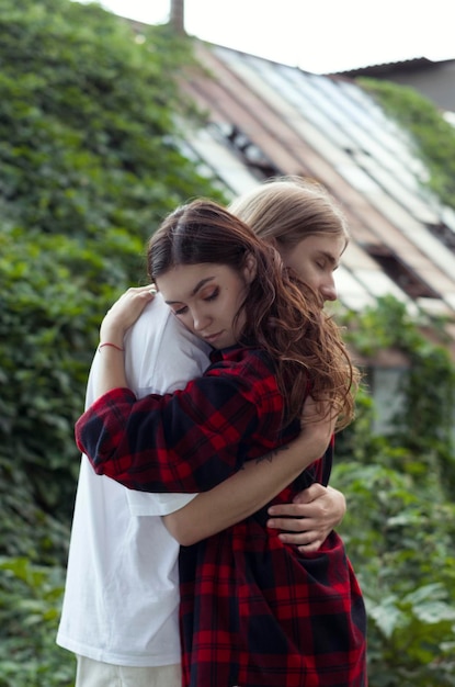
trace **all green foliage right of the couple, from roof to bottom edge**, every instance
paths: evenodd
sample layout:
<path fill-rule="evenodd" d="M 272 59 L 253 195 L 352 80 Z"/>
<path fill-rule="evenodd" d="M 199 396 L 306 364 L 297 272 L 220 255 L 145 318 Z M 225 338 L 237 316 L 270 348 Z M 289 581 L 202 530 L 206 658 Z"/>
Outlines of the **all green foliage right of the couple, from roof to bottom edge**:
<path fill-rule="evenodd" d="M 332 484 L 348 496 L 340 532 L 368 613 L 371 687 L 455 685 L 455 367 L 406 306 L 379 299 L 344 317 L 365 358 L 397 349 L 409 361 L 401 410 L 377 436 L 367 388 L 338 441 Z"/>

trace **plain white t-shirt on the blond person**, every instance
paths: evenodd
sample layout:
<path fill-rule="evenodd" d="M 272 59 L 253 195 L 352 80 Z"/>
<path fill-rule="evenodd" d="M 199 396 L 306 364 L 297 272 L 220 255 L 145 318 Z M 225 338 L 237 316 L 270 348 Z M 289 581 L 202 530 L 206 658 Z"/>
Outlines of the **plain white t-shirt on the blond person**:
<path fill-rule="evenodd" d="M 182 388 L 208 364 L 158 294 L 125 337 L 125 367 L 138 396 Z M 94 396 L 98 353 L 86 406 Z M 179 544 L 160 516 L 194 495 L 146 494 L 96 475 L 82 455 L 57 644 L 95 661 L 180 663 Z"/>

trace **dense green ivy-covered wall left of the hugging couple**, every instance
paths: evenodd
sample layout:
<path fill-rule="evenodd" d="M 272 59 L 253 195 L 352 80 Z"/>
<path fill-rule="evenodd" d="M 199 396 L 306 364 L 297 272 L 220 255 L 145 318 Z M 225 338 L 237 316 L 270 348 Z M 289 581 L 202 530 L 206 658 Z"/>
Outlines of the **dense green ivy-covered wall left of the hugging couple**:
<path fill-rule="evenodd" d="M 0 0 L 1 687 L 72 680 L 55 633 L 101 317 L 160 218 L 219 198 L 181 151 L 192 59 L 94 4 Z"/>

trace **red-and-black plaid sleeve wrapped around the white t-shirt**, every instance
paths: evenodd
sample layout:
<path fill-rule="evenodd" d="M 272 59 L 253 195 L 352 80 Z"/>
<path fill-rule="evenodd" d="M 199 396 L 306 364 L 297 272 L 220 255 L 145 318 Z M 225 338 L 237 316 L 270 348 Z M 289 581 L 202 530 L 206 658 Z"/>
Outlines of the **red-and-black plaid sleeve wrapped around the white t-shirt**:
<path fill-rule="evenodd" d="M 173 394 L 104 394 L 78 420 L 76 439 L 98 474 L 130 488 L 207 491 L 278 446 L 282 413 L 266 365 L 221 362 Z"/>

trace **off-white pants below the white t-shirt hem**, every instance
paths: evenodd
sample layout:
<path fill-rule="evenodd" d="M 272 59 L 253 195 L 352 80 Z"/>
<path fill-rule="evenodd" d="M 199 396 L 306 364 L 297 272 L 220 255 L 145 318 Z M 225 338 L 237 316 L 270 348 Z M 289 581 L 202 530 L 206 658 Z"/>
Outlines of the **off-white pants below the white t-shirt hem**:
<path fill-rule="evenodd" d="M 77 656 L 75 687 L 181 687 L 179 665 L 128 666 Z"/>

